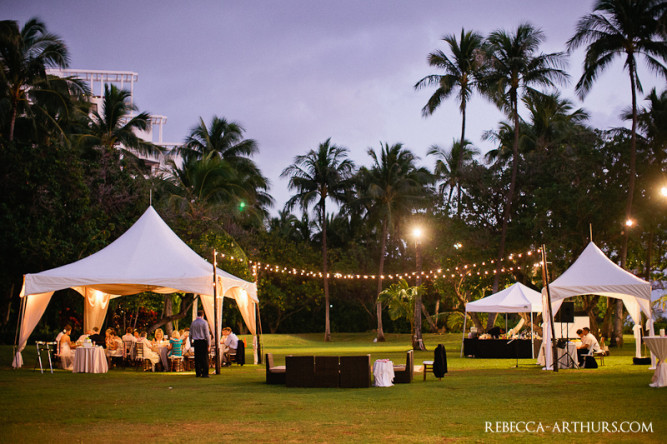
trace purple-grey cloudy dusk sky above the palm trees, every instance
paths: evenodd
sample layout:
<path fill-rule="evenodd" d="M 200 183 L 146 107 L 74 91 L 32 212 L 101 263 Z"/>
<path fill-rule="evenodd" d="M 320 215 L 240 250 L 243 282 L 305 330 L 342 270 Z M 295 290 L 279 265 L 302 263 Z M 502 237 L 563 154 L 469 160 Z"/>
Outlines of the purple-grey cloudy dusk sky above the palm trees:
<path fill-rule="evenodd" d="M 456 100 L 424 118 L 431 89 L 414 90 L 437 73 L 427 55 L 446 50 L 440 39 L 461 28 L 486 35 L 522 22 L 541 28 L 543 52 L 565 50 L 577 20 L 591 12 L 591 0 L 526 1 L 6 1 L 3 19 L 44 21 L 64 39 L 70 68 L 134 71 L 140 110 L 167 116 L 164 141 L 180 143 L 201 116 L 237 121 L 246 138 L 257 140 L 255 161 L 272 183 L 273 210 L 289 197 L 280 172 L 296 155 L 331 137 L 350 149 L 357 164 L 380 141 L 402 142 L 422 158 L 438 144 L 459 136 Z M 565 97 L 591 114 L 590 124 L 620 126 L 630 105 L 629 79 L 618 58 L 586 99 L 574 95 L 584 49 L 571 55 Z M 642 65 L 645 92 L 664 82 Z M 640 97 L 643 97 L 640 95 Z M 641 105 L 641 103 L 640 103 Z M 481 140 L 503 116 L 476 96 L 468 107 L 466 134 Z"/>

